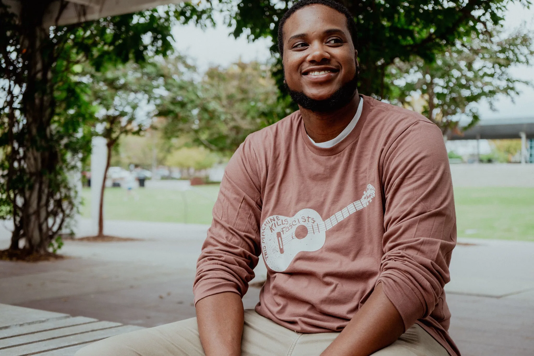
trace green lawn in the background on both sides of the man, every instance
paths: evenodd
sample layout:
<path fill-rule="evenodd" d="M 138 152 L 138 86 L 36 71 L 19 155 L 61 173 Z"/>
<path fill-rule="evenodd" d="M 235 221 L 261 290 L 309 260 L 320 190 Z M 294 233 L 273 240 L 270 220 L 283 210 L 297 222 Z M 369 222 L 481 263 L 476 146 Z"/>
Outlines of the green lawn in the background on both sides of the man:
<path fill-rule="evenodd" d="M 185 192 L 166 189 L 108 188 L 105 217 L 210 224 L 218 185 L 195 186 Z M 90 217 L 90 191 L 83 191 L 82 215 Z M 534 241 L 534 188 L 454 189 L 458 236 Z"/>

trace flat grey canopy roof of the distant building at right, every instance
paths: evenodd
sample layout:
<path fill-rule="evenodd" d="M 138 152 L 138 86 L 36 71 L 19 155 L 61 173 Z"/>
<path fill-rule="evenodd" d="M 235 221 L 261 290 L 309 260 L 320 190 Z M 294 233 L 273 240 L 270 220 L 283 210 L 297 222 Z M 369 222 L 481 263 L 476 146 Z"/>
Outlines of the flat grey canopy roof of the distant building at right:
<path fill-rule="evenodd" d="M 481 120 L 475 126 L 466 130 L 463 135 L 453 135 L 450 139 L 476 140 L 520 138 L 521 132 L 523 132 L 527 138 L 534 138 L 534 117 L 508 120 Z"/>

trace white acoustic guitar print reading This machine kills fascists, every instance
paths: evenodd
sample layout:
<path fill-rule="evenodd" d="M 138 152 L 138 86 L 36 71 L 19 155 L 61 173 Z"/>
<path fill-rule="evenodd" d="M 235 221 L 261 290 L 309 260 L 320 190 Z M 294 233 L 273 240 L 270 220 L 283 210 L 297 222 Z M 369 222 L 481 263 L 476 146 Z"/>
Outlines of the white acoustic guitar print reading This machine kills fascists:
<path fill-rule="evenodd" d="M 266 265 L 276 272 L 285 271 L 301 251 L 317 251 L 325 244 L 326 231 L 371 203 L 375 189 L 367 185 L 362 199 L 350 203 L 323 221 L 313 209 L 302 209 L 289 218 L 273 215 L 261 227 L 262 254 Z"/>

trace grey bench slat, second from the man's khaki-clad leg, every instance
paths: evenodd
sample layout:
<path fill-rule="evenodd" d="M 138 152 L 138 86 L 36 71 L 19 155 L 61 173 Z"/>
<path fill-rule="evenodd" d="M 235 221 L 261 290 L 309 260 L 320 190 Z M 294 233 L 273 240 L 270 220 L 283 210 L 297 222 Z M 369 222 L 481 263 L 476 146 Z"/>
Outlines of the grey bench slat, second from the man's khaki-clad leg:
<path fill-rule="evenodd" d="M 2 352 L 1 350 L 6 349 L 7 347 L 29 344 L 37 341 L 45 341 L 74 334 L 88 333 L 89 331 L 113 328 L 120 325 L 122 325 L 120 322 L 97 321 L 82 325 L 69 326 L 65 328 L 40 331 L 39 333 L 9 337 L 0 340 L 0 352 Z"/>

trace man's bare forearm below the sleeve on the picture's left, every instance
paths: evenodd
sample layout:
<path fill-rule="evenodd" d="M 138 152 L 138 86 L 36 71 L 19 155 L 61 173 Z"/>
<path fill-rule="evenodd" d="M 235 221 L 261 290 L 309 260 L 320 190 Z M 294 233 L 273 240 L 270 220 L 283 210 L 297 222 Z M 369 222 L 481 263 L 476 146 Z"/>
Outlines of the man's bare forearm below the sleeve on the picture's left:
<path fill-rule="evenodd" d="M 245 312 L 238 294 L 224 292 L 197 302 L 200 342 L 206 356 L 241 355 Z"/>

